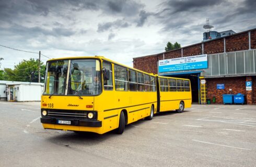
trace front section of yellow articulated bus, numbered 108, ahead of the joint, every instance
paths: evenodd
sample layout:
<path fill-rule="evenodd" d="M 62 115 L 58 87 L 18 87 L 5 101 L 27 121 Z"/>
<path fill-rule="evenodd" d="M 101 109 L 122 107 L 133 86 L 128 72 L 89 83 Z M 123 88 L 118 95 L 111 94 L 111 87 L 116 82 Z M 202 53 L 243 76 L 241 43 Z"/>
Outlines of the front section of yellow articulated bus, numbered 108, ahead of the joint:
<path fill-rule="evenodd" d="M 41 101 L 45 129 L 103 134 L 157 111 L 156 76 L 102 56 L 51 59 Z"/>

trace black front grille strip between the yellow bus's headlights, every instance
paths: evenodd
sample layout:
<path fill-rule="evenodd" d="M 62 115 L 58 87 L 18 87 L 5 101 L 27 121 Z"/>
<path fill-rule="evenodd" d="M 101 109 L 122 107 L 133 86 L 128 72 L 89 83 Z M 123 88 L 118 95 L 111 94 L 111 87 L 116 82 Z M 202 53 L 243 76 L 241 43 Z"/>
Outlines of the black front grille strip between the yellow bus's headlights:
<path fill-rule="evenodd" d="M 54 118 L 77 118 L 79 120 L 87 119 L 87 111 L 75 110 L 48 110 L 48 117 Z"/>

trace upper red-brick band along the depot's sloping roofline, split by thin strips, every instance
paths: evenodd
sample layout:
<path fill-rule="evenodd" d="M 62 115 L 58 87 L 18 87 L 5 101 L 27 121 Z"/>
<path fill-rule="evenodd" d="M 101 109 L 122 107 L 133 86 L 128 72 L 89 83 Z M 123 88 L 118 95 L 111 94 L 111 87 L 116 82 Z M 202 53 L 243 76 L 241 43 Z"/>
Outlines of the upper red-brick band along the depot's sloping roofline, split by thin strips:
<path fill-rule="evenodd" d="M 226 52 L 242 51 L 249 49 L 249 35 L 248 32 L 243 32 L 235 35 L 225 37 Z M 256 49 L 256 30 L 251 31 L 251 49 Z M 224 38 L 210 40 L 204 42 L 204 53 L 202 53 L 202 43 L 183 47 L 183 56 L 193 56 L 200 54 L 216 54 L 224 52 Z M 169 51 L 165 53 L 165 59 L 181 57 L 181 49 Z M 153 58 L 153 57 L 158 58 Z M 147 61 L 152 60 L 152 62 Z M 146 72 L 157 74 L 157 60 L 162 59 L 162 54 L 153 56 L 134 58 L 134 68 L 144 70 Z M 149 62 L 149 65 L 146 63 Z"/>

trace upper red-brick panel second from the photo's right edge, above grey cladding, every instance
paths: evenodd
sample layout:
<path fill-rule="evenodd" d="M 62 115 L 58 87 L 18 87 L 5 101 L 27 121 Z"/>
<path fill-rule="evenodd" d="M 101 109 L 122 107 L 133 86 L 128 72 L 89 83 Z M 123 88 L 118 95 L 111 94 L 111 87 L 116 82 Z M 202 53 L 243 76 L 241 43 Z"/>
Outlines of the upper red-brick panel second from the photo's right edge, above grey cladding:
<path fill-rule="evenodd" d="M 226 52 L 242 51 L 249 49 L 248 32 L 226 37 Z"/>

